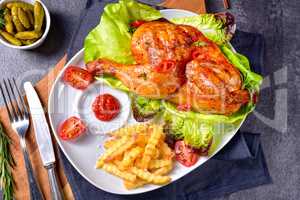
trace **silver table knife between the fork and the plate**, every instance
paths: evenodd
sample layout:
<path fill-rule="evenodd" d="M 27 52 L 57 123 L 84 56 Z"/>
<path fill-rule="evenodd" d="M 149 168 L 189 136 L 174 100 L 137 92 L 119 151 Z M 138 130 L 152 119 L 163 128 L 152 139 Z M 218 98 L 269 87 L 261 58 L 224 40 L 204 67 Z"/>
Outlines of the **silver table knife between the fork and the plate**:
<path fill-rule="evenodd" d="M 55 173 L 55 155 L 50 135 L 50 130 L 45 117 L 44 109 L 30 82 L 24 83 L 24 89 L 34 127 L 35 139 L 44 167 L 47 169 L 52 199 L 62 200 L 63 195 L 59 189 Z"/>

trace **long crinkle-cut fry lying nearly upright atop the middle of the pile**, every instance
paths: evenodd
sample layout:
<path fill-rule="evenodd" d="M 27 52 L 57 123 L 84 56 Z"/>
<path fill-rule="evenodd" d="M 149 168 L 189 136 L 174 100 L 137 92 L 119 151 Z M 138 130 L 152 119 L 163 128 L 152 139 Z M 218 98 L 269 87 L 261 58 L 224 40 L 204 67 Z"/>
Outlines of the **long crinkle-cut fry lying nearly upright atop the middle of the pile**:
<path fill-rule="evenodd" d="M 149 138 L 149 141 L 145 147 L 145 152 L 142 158 L 142 169 L 147 169 L 150 163 L 151 158 L 153 157 L 156 149 L 156 145 L 159 143 L 160 138 L 162 137 L 162 127 L 152 126 L 153 132 Z"/>

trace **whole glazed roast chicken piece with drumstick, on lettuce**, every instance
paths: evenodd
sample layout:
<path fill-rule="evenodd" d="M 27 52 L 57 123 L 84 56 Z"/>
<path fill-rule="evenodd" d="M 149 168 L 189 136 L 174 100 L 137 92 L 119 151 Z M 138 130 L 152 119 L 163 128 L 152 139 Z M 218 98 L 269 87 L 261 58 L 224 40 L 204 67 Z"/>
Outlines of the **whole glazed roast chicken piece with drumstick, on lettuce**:
<path fill-rule="evenodd" d="M 115 76 L 137 95 L 188 105 L 201 113 L 230 115 L 249 101 L 240 72 L 192 26 L 144 23 L 133 34 L 131 51 L 135 64 L 98 59 L 87 69 Z"/>

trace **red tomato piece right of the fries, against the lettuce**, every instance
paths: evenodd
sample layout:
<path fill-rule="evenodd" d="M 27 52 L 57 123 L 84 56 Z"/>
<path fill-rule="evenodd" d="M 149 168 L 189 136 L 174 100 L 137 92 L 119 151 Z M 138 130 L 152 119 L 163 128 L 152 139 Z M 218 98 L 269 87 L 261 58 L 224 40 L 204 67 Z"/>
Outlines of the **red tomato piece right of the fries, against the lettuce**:
<path fill-rule="evenodd" d="M 195 149 L 185 144 L 183 140 L 175 143 L 176 160 L 186 167 L 193 166 L 199 159 Z"/>

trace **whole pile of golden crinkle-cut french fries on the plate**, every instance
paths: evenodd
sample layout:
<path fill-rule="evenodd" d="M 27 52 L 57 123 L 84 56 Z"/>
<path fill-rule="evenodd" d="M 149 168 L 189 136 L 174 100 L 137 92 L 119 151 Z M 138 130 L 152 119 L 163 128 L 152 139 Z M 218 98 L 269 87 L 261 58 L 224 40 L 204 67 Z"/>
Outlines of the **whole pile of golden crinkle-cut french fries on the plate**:
<path fill-rule="evenodd" d="M 174 153 L 164 141 L 162 126 L 131 125 L 110 135 L 96 168 L 122 178 L 127 189 L 171 181 L 167 174 L 173 169 Z"/>

